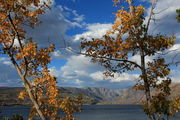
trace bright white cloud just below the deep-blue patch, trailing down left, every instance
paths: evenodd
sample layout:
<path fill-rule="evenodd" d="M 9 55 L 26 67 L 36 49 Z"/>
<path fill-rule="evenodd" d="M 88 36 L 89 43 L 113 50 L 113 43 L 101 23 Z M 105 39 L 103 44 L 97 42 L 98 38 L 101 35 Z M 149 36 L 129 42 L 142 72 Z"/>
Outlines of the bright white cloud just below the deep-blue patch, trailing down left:
<path fill-rule="evenodd" d="M 103 35 L 105 35 L 107 30 L 111 29 L 112 24 L 93 23 L 86 24 L 85 26 L 85 31 L 83 33 L 74 35 L 70 41 L 64 41 L 67 48 L 73 49 L 76 52 L 80 51 L 81 38 L 86 38 L 89 40 L 92 38 L 101 38 Z M 67 58 L 74 54 L 69 49 L 57 50 L 53 53 L 53 56 L 56 58 Z"/>

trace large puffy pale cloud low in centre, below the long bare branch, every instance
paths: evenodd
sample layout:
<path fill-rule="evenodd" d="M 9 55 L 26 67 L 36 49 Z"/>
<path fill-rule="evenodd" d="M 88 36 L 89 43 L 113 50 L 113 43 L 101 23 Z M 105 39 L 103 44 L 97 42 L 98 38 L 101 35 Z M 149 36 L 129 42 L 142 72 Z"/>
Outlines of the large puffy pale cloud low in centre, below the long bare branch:
<path fill-rule="evenodd" d="M 58 77 L 59 85 L 66 83 L 71 86 L 80 84 L 91 84 L 92 78 L 89 76 L 102 67 L 91 63 L 88 57 L 83 55 L 70 56 L 61 68 L 51 67 L 51 73 Z"/>

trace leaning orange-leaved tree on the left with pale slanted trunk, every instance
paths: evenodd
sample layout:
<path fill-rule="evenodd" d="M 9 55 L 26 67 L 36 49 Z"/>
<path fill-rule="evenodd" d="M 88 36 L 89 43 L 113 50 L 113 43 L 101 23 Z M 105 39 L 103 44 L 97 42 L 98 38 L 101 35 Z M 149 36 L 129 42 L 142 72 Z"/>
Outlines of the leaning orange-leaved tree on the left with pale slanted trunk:
<path fill-rule="evenodd" d="M 79 110 L 75 105 L 80 104 L 80 100 L 59 99 L 56 77 L 48 70 L 54 44 L 41 48 L 32 38 L 27 38 L 28 31 L 24 29 L 39 25 L 39 15 L 50 8 L 49 4 L 50 0 L 0 0 L 1 53 L 10 58 L 22 79 L 25 91 L 20 92 L 19 98 L 28 96 L 33 103 L 30 120 L 39 117 L 42 120 L 74 120 L 72 113 Z M 64 117 L 57 116 L 59 109 L 65 113 Z"/>

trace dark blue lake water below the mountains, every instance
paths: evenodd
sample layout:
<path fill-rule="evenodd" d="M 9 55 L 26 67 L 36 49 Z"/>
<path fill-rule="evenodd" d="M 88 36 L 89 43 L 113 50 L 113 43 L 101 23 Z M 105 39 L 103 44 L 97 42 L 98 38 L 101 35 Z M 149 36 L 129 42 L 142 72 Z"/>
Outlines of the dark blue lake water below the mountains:
<path fill-rule="evenodd" d="M 0 106 L 2 117 L 21 114 L 27 119 L 28 106 Z M 83 111 L 76 113 L 77 120 L 148 120 L 140 105 L 84 105 Z M 180 120 L 178 114 L 170 120 Z"/>

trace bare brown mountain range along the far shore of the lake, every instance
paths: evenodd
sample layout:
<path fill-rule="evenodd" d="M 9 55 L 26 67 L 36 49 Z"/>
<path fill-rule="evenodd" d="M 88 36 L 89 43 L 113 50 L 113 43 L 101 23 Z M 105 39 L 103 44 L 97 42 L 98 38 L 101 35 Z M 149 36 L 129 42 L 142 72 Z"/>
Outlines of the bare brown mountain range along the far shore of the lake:
<path fill-rule="evenodd" d="M 132 88 L 124 90 L 112 90 L 98 87 L 59 87 L 60 97 L 77 97 L 83 95 L 84 104 L 140 104 L 145 100 L 143 91 L 135 91 Z M 180 95 L 180 83 L 171 85 L 171 96 Z M 19 100 L 18 93 L 22 87 L 0 87 L 0 105 L 29 105 L 30 100 Z M 153 90 L 152 94 L 156 91 Z"/>

